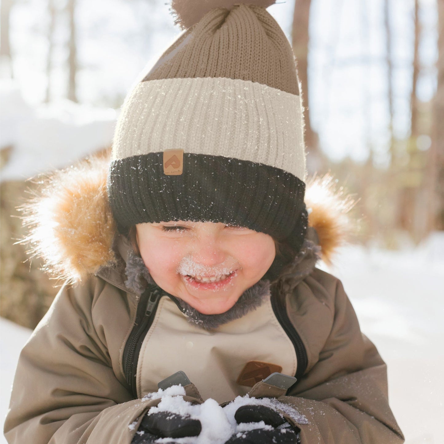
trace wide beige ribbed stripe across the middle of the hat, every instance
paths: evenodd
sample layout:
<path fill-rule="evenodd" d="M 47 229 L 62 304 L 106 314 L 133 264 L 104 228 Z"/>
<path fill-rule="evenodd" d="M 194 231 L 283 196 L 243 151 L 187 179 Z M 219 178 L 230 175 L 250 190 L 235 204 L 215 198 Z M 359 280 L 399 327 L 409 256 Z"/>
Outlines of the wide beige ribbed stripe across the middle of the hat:
<path fill-rule="evenodd" d="M 159 79 L 123 104 L 113 160 L 181 148 L 263 163 L 305 178 L 300 96 L 250 80 Z"/>

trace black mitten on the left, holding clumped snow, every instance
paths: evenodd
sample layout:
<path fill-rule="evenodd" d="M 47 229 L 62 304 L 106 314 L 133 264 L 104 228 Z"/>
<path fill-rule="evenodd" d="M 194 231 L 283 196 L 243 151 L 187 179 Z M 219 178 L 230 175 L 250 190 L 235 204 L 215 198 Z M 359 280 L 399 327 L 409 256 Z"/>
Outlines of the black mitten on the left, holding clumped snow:
<path fill-rule="evenodd" d="M 199 420 L 171 412 L 146 414 L 131 444 L 149 444 L 159 438 L 198 436 L 202 430 Z M 143 432 L 143 433 L 142 433 Z"/>

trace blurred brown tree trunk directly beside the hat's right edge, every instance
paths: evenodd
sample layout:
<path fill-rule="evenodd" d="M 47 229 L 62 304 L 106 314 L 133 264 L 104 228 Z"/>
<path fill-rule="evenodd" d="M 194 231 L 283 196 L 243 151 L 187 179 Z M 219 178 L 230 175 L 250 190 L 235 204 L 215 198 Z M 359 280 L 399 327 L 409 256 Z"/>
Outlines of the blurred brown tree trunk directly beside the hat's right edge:
<path fill-rule="evenodd" d="M 305 147 L 307 148 L 307 169 L 309 173 L 325 170 L 325 157 L 319 149 L 317 133 L 310 124 L 309 87 L 308 87 L 308 45 L 309 16 L 311 0 L 296 0 L 293 13 L 291 44 L 297 59 L 297 74 L 301 83 L 302 103 L 304 105 Z"/>

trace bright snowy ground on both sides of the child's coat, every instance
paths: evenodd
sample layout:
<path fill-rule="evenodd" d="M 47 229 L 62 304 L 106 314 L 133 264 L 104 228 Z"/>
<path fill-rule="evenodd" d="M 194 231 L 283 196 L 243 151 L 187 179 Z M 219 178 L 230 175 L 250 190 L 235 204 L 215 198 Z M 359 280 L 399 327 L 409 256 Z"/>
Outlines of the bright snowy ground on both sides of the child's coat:
<path fill-rule="evenodd" d="M 344 248 L 330 271 L 343 281 L 362 331 L 388 365 L 389 400 L 406 443 L 442 443 L 444 233 L 402 253 Z M 19 350 L 30 331 L 4 319 L 0 327 L 3 421 Z"/>

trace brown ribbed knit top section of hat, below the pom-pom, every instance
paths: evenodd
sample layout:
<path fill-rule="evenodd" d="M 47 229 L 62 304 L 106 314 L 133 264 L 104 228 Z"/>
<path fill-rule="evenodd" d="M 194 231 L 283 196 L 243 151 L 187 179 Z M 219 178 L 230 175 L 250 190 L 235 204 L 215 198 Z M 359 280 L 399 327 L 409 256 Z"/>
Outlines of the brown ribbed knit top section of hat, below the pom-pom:
<path fill-rule="evenodd" d="M 180 47 L 184 39 L 187 41 Z M 240 4 L 231 11 L 211 10 L 178 37 L 142 81 L 197 77 L 251 80 L 299 94 L 289 41 L 260 6 Z"/>

